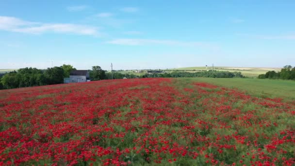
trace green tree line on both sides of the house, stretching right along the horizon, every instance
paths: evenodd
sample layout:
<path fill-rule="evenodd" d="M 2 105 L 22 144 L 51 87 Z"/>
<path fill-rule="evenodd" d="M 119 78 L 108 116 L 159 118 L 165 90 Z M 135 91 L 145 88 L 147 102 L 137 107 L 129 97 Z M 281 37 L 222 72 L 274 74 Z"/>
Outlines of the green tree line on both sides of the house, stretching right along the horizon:
<path fill-rule="evenodd" d="M 71 65 L 55 66 L 47 69 L 37 69 L 32 67 L 20 68 L 0 75 L 0 89 L 11 89 L 19 87 L 30 87 L 40 85 L 50 85 L 64 83 L 64 78 L 68 78 L 70 71 L 76 70 Z M 112 73 L 105 72 L 100 66 L 92 66 L 89 70 L 91 81 L 112 79 Z M 199 71 L 199 72 L 178 72 L 171 73 L 146 73 L 143 75 L 122 74 L 113 72 L 113 79 L 126 78 L 178 78 L 178 77 L 212 77 L 212 78 L 244 78 L 241 72 L 229 71 Z"/>

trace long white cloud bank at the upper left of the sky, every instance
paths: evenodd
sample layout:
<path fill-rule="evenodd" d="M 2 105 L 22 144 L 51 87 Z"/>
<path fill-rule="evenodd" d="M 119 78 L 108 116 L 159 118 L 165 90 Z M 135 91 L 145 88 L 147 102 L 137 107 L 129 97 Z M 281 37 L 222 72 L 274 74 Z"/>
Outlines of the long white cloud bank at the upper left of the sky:
<path fill-rule="evenodd" d="M 33 34 L 54 32 L 82 35 L 98 35 L 97 27 L 67 23 L 37 23 L 25 21 L 16 17 L 3 16 L 0 16 L 0 30 Z"/>

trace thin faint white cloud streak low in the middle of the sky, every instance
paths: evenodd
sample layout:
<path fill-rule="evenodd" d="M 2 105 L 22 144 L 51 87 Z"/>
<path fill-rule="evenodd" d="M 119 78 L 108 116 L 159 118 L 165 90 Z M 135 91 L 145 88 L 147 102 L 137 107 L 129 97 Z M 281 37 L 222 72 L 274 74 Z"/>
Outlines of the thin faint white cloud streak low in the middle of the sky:
<path fill-rule="evenodd" d="M 140 46 L 140 45 L 169 45 L 169 46 L 197 46 L 197 47 L 210 47 L 217 48 L 208 43 L 204 42 L 183 42 L 177 40 L 156 40 L 156 39 L 114 39 L 111 41 L 107 41 L 109 44 L 117 44 L 117 45 L 128 45 L 128 46 Z"/>

